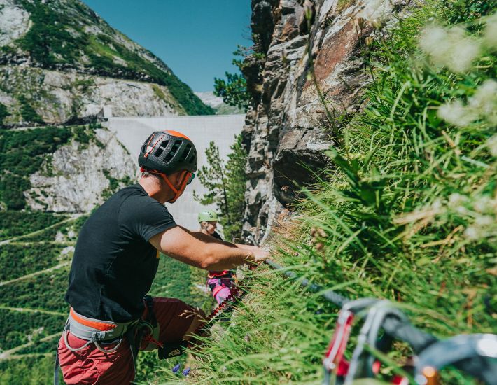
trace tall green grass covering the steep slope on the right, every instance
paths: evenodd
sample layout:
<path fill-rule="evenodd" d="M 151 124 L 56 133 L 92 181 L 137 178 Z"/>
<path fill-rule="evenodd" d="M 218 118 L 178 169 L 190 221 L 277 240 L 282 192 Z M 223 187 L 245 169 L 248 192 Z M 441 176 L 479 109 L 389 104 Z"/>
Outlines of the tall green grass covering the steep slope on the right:
<path fill-rule="evenodd" d="M 291 239 L 271 241 L 275 258 L 298 274 L 347 297 L 393 300 L 441 338 L 496 328 L 496 95 L 483 93 L 495 78 L 495 50 L 483 40 L 493 8 L 430 1 L 378 31 L 363 52 L 373 76 L 365 111 L 333 132 L 330 167 L 296 208 Z M 463 71 L 418 48 L 432 19 L 459 23 L 464 39 L 481 43 Z M 188 382 L 318 383 L 337 309 L 264 267 L 249 286 L 232 321 L 190 359 Z M 402 364 L 408 354 L 400 346 L 389 358 Z M 381 376 L 397 367 L 384 363 Z M 165 371 L 166 381 L 180 377 Z M 455 370 L 444 379 L 471 383 Z"/>

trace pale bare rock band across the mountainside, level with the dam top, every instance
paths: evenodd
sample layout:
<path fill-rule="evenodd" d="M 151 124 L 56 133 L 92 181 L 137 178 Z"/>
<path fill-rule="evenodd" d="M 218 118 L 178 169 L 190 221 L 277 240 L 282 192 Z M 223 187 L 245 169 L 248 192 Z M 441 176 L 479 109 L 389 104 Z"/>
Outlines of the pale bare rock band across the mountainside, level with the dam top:
<path fill-rule="evenodd" d="M 26 97 L 23 99 L 23 95 L 29 95 L 29 105 L 48 124 L 85 120 L 96 116 L 102 106 L 111 106 L 115 116 L 186 114 L 163 85 L 75 72 L 0 66 L 0 103 L 10 110 L 4 123 L 24 121 L 22 109 Z"/>

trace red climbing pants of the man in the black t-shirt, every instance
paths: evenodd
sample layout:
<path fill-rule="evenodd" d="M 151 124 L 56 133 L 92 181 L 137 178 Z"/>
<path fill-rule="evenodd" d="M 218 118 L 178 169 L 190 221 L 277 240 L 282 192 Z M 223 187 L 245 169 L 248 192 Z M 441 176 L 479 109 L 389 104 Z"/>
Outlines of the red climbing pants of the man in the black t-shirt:
<path fill-rule="evenodd" d="M 181 342 L 190 326 L 197 318 L 197 309 L 188 306 L 185 302 L 175 298 L 156 297 L 153 299 L 153 312 L 160 325 L 159 342 L 164 344 Z M 141 348 L 148 345 L 146 339 L 141 341 Z M 67 336 L 69 346 L 76 349 L 83 346 L 86 341 L 74 335 Z M 112 349 L 116 344 L 105 345 L 105 349 Z M 94 344 L 90 344 L 80 351 L 67 349 L 64 338 L 59 340 L 59 363 L 64 374 L 66 384 L 130 384 L 134 379 L 134 366 L 127 339 L 116 351 L 103 353 Z"/>

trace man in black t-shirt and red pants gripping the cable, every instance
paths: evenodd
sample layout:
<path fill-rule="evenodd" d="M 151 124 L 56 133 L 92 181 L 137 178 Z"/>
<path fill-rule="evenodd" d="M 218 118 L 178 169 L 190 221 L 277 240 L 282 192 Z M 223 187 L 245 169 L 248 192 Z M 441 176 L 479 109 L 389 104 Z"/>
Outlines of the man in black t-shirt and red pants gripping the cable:
<path fill-rule="evenodd" d="M 66 384 L 129 384 L 139 349 L 159 346 L 167 356 L 200 325 L 198 309 L 146 296 L 159 253 L 207 270 L 267 258 L 260 248 L 190 232 L 167 211 L 165 202 L 176 202 L 197 170 L 188 137 L 153 132 L 139 165 L 139 183 L 114 194 L 80 230 L 66 293 L 71 309 L 57 349 Z"/>

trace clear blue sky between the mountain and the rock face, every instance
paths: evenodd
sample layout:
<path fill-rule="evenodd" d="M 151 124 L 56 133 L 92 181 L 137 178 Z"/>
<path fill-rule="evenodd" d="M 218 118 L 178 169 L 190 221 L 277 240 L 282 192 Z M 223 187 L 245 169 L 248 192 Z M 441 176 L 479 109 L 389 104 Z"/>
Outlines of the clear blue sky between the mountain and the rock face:
<path fill-rule="evenodd" d="M 160 57 L 194 91 L 235 72 L 237 45 L 251 45 L 250 0 L 83 0 L 112 27 Z"/>

